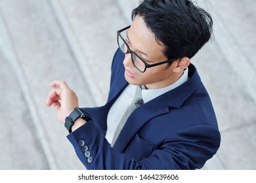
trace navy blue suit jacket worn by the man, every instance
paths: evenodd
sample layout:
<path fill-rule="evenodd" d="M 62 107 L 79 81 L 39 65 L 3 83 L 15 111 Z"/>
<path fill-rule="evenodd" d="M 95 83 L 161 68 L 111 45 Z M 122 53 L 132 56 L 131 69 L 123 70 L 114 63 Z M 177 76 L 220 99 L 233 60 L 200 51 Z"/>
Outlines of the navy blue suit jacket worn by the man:
<path fill-rule="evenodd" d="M 104 138 L 108 111 L 127 86 L 124 55 L 117 50 L 106 105 L 83 108 L 93 120 L 68 135 L 87 169 L 200 169 L 218 150 L 221 136 L 211 100 L 194 65 L 190 79 L 129 116 L 114 147 Z M 118 112 L 118 111 L 116 111 Z M 85 142 L 91 159 L 79 146 Z"/>

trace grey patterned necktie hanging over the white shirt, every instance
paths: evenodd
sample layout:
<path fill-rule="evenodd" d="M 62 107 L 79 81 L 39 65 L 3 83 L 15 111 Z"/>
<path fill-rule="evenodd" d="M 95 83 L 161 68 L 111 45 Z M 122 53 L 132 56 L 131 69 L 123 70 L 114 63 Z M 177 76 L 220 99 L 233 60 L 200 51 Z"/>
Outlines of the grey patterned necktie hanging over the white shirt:
<path fill-rule="evenodd" d="M 142 104 L 143 104 L 143 99 L 142 99 L 142 95 L 141 95 L 141 88 L 140 88 L 140 86 L 137 86 L 133 101 L 132 101 L 131 105 L 129 105 L 127 110 L 125 111 L 125 114 L 123 114 L 123 117 L 121 118 L 121 121 L 119 122 L 119 125 L 117 126 L 111 146 L 114 146 L 116 139 L 117 139 L 119 133 L 121 132 L 121 129 L 123 128 L 123 126 L 125 125 L 125 122 L 127 121 L 127 118 L 129 118 L 129 116 L 131 115 L 133 110 L 135 110 L 137 107 L 139 107 Z"/>

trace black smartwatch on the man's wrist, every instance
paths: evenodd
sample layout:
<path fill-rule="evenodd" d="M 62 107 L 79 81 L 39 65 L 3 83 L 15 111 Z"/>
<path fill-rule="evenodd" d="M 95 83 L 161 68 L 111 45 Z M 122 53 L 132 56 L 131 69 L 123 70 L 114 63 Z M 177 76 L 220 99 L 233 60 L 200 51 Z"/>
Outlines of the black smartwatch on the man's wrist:
<path fill-rule="evenodd" d="M 86 116 L 85 114 L 83 114 L 82 110 L 78 107 L 75 107 L 74 110 L 70 113 L 70 115 L 68 117 L 66 117 L 65 119 L 65 127 L 66 129 L 68 129 L 68 132 L 71 133 L 72 132 L 72 126 L 74 125 L 75 120 L 77 120 L 77 118 L 82 118 L 85 121 L 89 121 L 91 120 L 91 118 L 89 116 Z"/>

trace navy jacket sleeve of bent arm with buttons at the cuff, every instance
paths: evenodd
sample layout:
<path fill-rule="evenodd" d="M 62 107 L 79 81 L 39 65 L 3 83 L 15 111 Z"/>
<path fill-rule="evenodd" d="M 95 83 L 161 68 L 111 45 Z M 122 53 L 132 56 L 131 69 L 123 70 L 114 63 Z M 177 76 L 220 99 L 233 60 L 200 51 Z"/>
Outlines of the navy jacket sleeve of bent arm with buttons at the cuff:
<path fill-rule="evenodd" d="M 210 125 L 187 127 L 170 134 L 147 158 L 135 161 L 114 150 L 93 120 L 68 135 L 78 158 L 87 169 L 130 170 L 200 169 L 217 152 L 220 138 L 219 131 Z M 81 141 L 87 146 L 87 152 L 82 150 Z"/>

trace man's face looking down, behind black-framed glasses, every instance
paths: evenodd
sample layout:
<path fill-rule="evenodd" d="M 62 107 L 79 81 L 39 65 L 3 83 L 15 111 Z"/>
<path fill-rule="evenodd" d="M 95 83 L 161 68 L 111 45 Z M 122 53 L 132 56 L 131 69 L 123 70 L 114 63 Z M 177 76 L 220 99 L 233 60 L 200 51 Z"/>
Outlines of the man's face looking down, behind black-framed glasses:
<path fill-rule="evenodd" d="M 149 64 L 167 60 L 163 54 L 163 44 L 156 42 L 154 34 L 146 27 L 143 18 L 139 15 L 135 17 L 127 31 L 126 42 L 133 52 Z M 140 73 L 131 61 L 131 54 L 125 54 L 123 60 L 125 79 L 133 85 L 146 85 L 148 89 L 164 88 L 173 83 L 173 75 L 175 75 L 173 68 L 176 63 L 177 61 L 174 61 L 169 67 L 167 63 L 150 67 L 144 73 Z"/>

